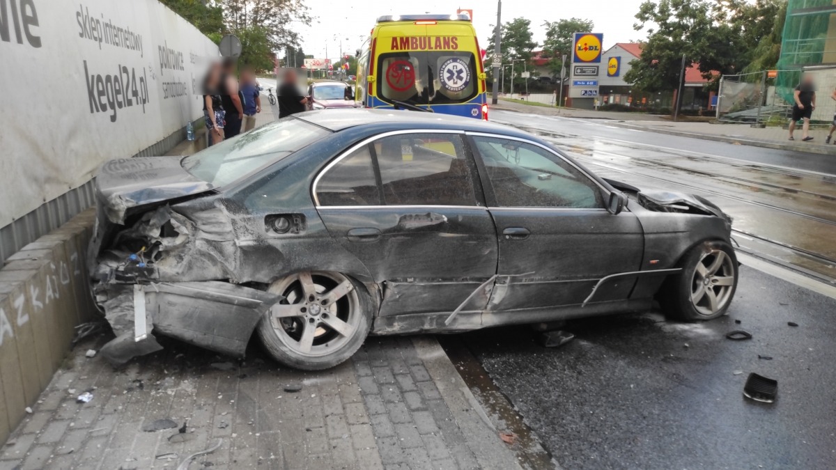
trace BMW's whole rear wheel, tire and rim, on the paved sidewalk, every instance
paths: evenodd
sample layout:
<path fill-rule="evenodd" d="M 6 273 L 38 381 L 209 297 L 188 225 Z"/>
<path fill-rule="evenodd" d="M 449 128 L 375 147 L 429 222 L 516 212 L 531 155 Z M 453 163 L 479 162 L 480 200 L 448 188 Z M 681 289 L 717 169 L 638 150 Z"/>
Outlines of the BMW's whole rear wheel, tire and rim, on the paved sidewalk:
<path fill-rule="evenodd" d="M 298 273 L 270 284 L 283 295 L 258 323 L 264 349 L 302 370 L 334 367 L 354 355 L 371 325 L 371 299 L 362 284 L 340 273 Z"/>

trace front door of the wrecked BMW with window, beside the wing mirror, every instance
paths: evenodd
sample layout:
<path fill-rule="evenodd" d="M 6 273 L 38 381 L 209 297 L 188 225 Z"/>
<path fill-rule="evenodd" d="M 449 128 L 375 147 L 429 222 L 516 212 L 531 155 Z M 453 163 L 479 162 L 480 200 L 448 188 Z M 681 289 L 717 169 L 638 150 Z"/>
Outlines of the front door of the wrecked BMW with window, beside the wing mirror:
<path fill-rule="evenodd" d="M 533 141 L 471 138 L 499 239 L 491 309 L 581 304 L 599 279 L 639 270 L 640 222 L 608 212 L 609 192 L 579 167 Z M 608 284 L 595 300 L 627 299 L 634 284 Z"/>

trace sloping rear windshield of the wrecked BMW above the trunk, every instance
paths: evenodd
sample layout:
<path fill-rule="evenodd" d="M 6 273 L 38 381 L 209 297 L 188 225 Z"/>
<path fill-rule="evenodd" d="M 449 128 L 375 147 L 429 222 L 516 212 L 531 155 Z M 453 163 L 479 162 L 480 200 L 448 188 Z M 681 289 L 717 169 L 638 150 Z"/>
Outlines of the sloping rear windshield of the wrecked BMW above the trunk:
<path fill-rule="evenodd" d="M 186 156 L 180 164 L 192 175 L 212 183 L 212 186 L 225 186 L 325 135 L 328 135 L 327 130 L 303 120 L 277 120 Z"/>

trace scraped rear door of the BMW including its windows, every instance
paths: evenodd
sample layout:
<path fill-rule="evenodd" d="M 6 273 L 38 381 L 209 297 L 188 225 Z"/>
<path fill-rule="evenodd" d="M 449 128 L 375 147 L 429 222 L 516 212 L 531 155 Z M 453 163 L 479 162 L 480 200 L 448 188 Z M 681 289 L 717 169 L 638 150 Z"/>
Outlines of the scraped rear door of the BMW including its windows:
<path fill-rule="evenodd" d="M 381 315 L 451 312 L 496 273 L 496 229 L 461 132 L 366 140 L 319 174 L 314 201 L 383 285 Z M 463 311 L 486 304 L 482 289 Z"/>

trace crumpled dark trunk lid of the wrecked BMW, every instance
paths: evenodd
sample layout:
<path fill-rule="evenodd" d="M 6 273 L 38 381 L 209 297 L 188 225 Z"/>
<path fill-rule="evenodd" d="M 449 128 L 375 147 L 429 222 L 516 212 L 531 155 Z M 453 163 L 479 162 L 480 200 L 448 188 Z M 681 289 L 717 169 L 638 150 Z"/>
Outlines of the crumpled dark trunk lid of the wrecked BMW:
<path fill-rule="evenodd" d="M 96 176 L 99 201 L 110 222 L 124 223 L 132 207 L 211 191 L 212 184 L 197 179 L 176 156 L 145 156 L 111 160 Z"/>

